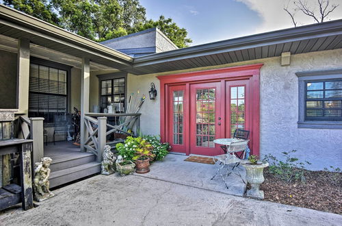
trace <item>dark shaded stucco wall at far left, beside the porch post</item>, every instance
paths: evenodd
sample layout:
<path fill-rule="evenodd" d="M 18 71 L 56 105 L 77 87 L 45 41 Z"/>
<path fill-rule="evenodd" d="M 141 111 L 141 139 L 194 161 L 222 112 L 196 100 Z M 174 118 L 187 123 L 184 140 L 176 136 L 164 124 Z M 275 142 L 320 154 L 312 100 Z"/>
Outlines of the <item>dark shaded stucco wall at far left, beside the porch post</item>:
<path fill-rule="evenodd" d="M 0 108 L 16 108 L 16 53 L 0 50 Z"/>

